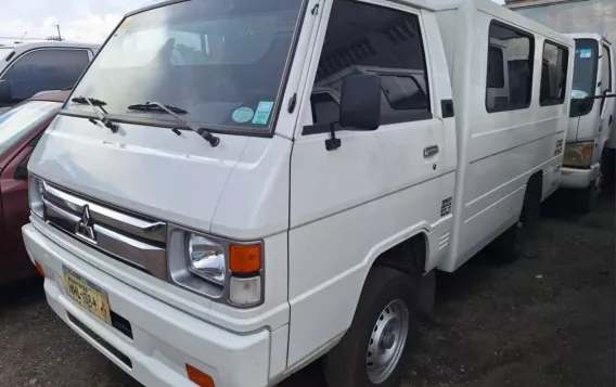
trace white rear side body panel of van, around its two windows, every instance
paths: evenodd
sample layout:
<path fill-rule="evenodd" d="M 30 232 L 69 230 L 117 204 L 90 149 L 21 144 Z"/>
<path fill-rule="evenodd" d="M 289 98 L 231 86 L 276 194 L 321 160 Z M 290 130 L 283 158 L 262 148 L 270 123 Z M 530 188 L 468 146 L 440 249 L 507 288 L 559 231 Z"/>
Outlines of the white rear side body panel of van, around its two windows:
<path fill-rule="evenodd" d="M 482 4 L 480 8 L 475 5 Z M 490 4 L 491 5 L 491 4 Z M 567 74 L 566 101 L 540 106 L 540 79 L 546 36 L 499 7 L 466 1 L 459 9 L 438 12 L 448 64 L 458 102 L 458 173 L 453 199 L 452 248 L 439 269 L 453 271 L 496 236 L 514 224 L 521 214 L 526 184 L 542 175 L 542 196 L 557 188 L 562 150 L 569 115 L 573 72 Z M 455 20 L 457 23 L 452 23 Z M 527 108 L 488 113 L 487 65 L 490 23 L 497 21 L 534 37 L 531 100 Z M 546 34 L 549 31 L 547 30 Z M 550 40 L 573 41 L 553 31 Z M 454 42 L 454 43 L 451 43 Z M 529 49 L 530 50 L 530 49 Z M 513 60 L 512 60 L 513 61 Z M 573 68 L 569 54 L 568 68 Z"/>

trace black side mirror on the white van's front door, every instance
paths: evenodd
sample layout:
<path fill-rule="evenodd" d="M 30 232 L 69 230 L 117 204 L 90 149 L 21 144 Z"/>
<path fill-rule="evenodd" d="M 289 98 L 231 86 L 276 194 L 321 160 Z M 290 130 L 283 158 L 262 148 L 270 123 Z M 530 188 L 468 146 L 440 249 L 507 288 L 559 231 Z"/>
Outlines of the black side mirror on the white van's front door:
<path fill-rule="evenodd" d="M 341 127 L 349 130 L 376 130 L 381 126 L 381 77 L 351 75 L 343 80 Z"/>

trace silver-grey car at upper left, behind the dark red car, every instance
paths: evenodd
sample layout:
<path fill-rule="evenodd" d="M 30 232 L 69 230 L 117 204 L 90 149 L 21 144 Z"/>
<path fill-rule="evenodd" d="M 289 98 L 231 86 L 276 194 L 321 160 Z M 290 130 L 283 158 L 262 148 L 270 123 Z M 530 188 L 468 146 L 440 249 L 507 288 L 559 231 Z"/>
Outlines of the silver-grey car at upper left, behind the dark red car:
<path fill-rule="evenodd" d="M 39 91 L 74 86 L 99 48 L 64 41 L 0 47 L 0 113 Z"/>

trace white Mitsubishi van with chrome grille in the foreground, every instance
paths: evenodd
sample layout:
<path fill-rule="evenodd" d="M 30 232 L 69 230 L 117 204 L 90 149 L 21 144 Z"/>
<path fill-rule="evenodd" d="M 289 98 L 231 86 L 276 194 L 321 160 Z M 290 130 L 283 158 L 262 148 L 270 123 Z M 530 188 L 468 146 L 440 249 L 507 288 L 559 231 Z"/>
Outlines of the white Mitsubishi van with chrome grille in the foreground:
<path fill-rule="evenodd" d="M 394 386 L 435 270 L 556 189 L 573 52 L 489 0 L 131 13 L 29 163 L 48 301 L 146 386 Z"/>

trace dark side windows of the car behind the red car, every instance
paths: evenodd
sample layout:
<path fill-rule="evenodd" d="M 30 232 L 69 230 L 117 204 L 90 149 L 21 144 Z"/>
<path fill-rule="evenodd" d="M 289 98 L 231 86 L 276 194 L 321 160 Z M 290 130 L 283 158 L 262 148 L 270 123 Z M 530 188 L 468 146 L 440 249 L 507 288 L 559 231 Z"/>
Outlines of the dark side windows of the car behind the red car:
<path fill-rule="evenodd" d="M 4 73 L 13 101 L 43 90 L 62 90 L 75 85 L 88 65 L 86 50 L 37 50 L 26 53 Z"/>

